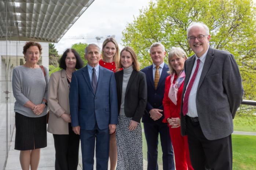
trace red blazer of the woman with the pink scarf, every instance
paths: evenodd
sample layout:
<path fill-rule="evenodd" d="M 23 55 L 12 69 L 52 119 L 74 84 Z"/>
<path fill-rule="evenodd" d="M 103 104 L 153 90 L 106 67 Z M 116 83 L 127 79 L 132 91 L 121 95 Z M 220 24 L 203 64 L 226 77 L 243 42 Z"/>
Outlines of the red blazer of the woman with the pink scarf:
<path fill-rule="evenodd" d="M 173 83 L 175 83 L 177 75 L 175 75 Z M 177 96 L 177 105 L 175 105 L 171 99 L 168 97 L 169 89 L 171 86 L 171 75 L 169 75 L 165 80 L 165 89 L 164 89 L 164 99 L 163 99 L 163 106 L 164 106 L 164 119 L 163 122 L 167 122 L 167 118 L 171 117 L 179 117 L 180 118 L 180 105 L 181 105 L 181 98 L 182 98 L 182 90 L 183 84 L 181 84 L 178 90 Z"/>

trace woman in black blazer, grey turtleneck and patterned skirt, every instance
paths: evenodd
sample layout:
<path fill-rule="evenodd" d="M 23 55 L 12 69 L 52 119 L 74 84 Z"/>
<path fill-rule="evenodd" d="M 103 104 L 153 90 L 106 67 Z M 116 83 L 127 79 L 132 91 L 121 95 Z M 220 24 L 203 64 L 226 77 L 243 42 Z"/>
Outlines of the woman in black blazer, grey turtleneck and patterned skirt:
<path fill-rule="evenodd" d="M 139 71 L 139 62 L 131 47 L 121 51 L 115 73 L 118 99 L 117 170 L 143 170 L 142 128 L 140 119 L 147 104 L 145 73 Z"/>

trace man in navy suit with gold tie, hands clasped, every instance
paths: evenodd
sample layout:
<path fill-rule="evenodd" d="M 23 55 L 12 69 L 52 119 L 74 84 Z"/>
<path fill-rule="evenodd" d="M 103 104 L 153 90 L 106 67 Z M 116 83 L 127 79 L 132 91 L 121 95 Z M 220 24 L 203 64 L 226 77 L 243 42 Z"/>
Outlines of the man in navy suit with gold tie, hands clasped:
<path fill-rule="evenodd" d="M 164 63 L 165 54 L 164 45 L 159 42 L 153 43 L 150 46 L 153 64 L 141 70 L 146 74 L 147 79 L 147 106 L 142 117 L 147 140 L 147 170 L 158 170 L 158 134 L 160 134 L 163 153 L 163 170 L 175 170 L 169 128 L 162 122 L 164 118 L 162 100 L 169 70 L 168 65 Z"/>

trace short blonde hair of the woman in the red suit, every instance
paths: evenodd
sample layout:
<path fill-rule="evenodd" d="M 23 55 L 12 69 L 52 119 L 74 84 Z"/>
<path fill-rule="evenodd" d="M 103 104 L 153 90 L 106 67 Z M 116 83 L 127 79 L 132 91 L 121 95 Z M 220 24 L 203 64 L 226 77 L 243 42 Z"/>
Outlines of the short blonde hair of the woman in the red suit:
<path fill-rule="evenodd" d="M 186 53 L 184 52 L 183 49 L 181 49 L 179 47 L 172 47 L 169 54 L 168 54 L 169 71 L 167 73 L 169 73 L 169 74 L 172 74 L 172 73 L 175 72 L 175 69 L 172 68 L 171 62 L 170 62 L 173 56 L 177 56 L 178 58 L 184 58 L 185 60 L 187 59 L 187 55 L 186 55 Z"/>

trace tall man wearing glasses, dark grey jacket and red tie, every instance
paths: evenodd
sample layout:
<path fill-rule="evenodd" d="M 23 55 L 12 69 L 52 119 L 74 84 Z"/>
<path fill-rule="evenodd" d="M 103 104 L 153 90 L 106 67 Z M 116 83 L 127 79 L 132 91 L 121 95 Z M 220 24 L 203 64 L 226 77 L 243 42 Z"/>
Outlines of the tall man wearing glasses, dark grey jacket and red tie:
<path fill-rule="evenodd" d="M 210 38 L 203 23 L 187 28 L 195 54 L 184 65 L 181 131 L 188 135 L 194 170 L 232 170 L 233 119 L 244 90 L 234 56 L 211 48 Z"/>

